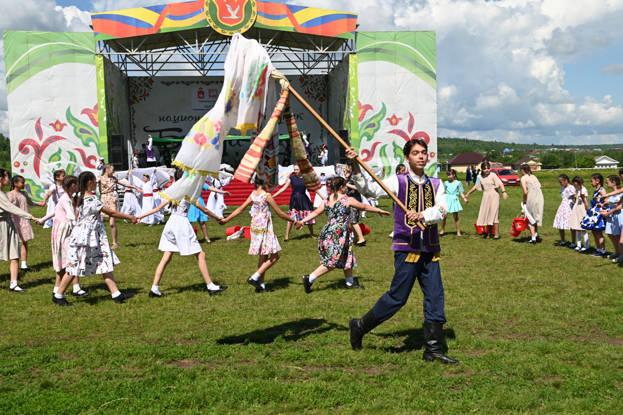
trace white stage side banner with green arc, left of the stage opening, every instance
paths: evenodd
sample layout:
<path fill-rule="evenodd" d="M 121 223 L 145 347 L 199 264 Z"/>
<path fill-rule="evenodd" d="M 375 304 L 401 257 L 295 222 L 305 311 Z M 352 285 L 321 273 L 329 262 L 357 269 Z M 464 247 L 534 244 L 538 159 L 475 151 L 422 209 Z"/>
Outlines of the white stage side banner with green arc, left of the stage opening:
<path fill-rule="evenodd" d="M 32 199 L 45 195 L 43 165 L 72 161 L 95 168 L 100 140 L 92 33 L 4 32 L 13 174 Z M 75 165 L 65 168 L 71 173 Z"/>

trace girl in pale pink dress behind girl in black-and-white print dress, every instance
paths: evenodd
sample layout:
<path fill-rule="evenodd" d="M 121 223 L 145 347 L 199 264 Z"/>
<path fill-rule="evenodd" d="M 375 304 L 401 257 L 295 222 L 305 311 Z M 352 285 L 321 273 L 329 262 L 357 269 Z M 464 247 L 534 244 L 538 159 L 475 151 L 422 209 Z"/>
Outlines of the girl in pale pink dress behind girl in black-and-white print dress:
<path fill-rule="evenodd" d="M 62 183 L 63 194 L 60 196 L 58 203 L 54 207 L 54 211 L 42 217 L 37 224 L 42 225 L 49 219 L 53 220 L 52 224 L 52 267 L 56 272 L 56 281 L 54 283 L 55 294 L 59 291 L 60 282 L 67 274 L 67 252 L 69 251 L 69 238 L 74 229 L 76 219 L 75 200 L 78 196 L 70 196 L 78 193 L 78 178 L 76 176 L 65 176 Z M 91 295 L 80 287 L 80 277 L 74 277 L 74 291 L 72 295 L 75 298 L 87 297 Z"/>

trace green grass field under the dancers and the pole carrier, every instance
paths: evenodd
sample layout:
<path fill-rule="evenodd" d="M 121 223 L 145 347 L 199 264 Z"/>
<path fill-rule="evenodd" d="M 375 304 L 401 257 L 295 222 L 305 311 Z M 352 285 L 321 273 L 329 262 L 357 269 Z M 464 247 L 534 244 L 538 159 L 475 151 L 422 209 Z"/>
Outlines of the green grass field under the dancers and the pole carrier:
<path fill-rule="evenodd" d="M 391 218 L 364 219 L 372 233 L 356 248 L 355 277 L 366 290 L 343 289 L 336 271 L 309 295 L 301 275 L 318 265 L 318 252 L 307 231 L 282 242 L 267 274 L 277 290 L 256 294 L 245 282 L 257 265 L 249 241 L 226 241 L 210 221 L 208 267 L 229 289 L 209 297 L 194 257 L 175 256 L 161 282 L 167 296 L 148 298 L 163 227 L 120 224 L 115 277 L 137 295 L 113 303 L 97 275 L 82 279 L 92 295 L 73 308 L 52 305 L 50 229 L 37 228 L 33 271 L 21 275 L 26 294 L 9 292 L 8 263 L 0 264 L 0 413 L 621 414 L 623 269 L 553 246 L 559 186 L 555 176 L 542 184 L 542 244 L 508 234 L 518 186 L 502 201 L 500 241 L 475 233 L 479 192 L 460 214 L 464 237 L 446 227 L 445 334 L 456 366 L 421 360 L 417 284 L 407 305 L 364 337 L 363 350 L 350 349 L 348 320 L 389 288 Z M 285 222 L 274 220 L 283 239 Z M 242 214 L 232 226 L 249 222 Z"/>

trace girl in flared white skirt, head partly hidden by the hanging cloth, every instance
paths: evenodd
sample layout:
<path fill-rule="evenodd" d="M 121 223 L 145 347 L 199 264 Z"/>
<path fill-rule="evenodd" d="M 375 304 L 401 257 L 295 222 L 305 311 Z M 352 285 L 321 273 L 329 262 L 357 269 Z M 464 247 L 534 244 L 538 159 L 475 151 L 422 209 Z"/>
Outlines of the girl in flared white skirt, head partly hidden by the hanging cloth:
<path fill-rule="evenodd" d="M 182 174 L 183 170 L 177 169 L 174 178 L 179 180 L 179 178 L 182 177 Z M 206 282 L 207 292 L 209 292 L 210 295 L 227 290 L 226 286 L 216 285 L 210 278 L 210 274 L 207 270 L 206 252 L 203 252 L 203 249 L 201 249 L 201 245 L 199 245 L 197 236 L 194 233 L 193 226 L 188 220 L 188 207 L 191 204 L 188 200 L 184 199 L 179 202 L 179 204 L 164 200 L 150 211 L 141 213 L 140 216 L 138 216 L 138 219 L 140 220 L 143 219 L 143 217 L 158 213 L 167 204 L 169 205 L 171 216 L 169 217 L 169 220 L 166 221 L 166 225 L 164 225 L 162 235 L 160 236 L 158 249 L 163 251 L 163 254 L 162 259 L 156 268 L 156 275 L 154 276 L 154 282 L 151 285 L 149 297 L 153 298 L 163 296 L 163 293 L 161 293 L 159 289 L 160 279 L 164 274 L 166 266 L 169 265 L 169 262 L 171 262 L 174 252 L 179 252 L 179 255 L 182 256 L 195 255 L 195 257 L 197 257 L 199 271 Z M 221 219 L 221 217 L 216 216 L 214 213 L 209 211 L 206 206 L 201 204 L 197 204 L 196 206 L 197 209 L 207 216 L 214 219 Z"/>

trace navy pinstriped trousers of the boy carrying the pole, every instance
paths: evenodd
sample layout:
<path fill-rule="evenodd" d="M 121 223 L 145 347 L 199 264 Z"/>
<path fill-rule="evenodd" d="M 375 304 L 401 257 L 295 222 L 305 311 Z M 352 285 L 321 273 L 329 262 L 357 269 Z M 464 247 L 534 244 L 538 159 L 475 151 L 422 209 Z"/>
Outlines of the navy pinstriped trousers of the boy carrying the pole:
<path fill-rule="evenodd" d="M 394 278 L 389 291 L 374 305 L 374 315 L 384 322 L 406 304 L 416 279 L 424 293 L 424 321 L 445 323 L 444 284 L 441 282 L 439 261 L 432 262 L 432 252 L 422 252 L 419 261 L 404 262 L 409 252 L 394 252 Z"/>

